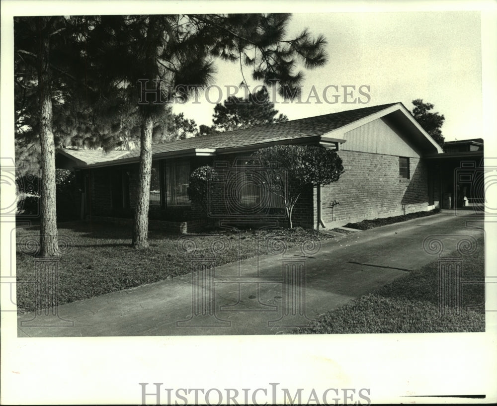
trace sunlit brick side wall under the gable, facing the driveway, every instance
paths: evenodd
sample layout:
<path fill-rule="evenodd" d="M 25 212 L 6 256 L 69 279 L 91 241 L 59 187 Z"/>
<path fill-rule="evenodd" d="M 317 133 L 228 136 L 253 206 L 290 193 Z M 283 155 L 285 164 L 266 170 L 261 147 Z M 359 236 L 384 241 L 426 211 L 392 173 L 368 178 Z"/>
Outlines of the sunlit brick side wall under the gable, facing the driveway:
<path fill-rule="evenodd" d="M 323 220 L 327 228 L 348 222 L 428 210 L 427 169 L 410 158 L 410 179 L 399 179 L 399 157 L 339 151 L 345 172 L 322 188 Z M 331 202 L 339 204 L 331 208 Z M 317 203 L 314 199 L 314 222 Z"/>

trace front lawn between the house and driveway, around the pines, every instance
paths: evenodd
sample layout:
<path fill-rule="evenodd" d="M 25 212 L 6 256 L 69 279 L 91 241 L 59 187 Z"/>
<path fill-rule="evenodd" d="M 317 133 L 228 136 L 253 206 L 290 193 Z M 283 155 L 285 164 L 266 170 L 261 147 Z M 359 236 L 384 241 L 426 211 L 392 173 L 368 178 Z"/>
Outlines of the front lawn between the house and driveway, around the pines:
<path fill-rule="evenodd" d="M 313 230 L 296 228 L 275 229 L 256 233 L 253 230 L 207 233 L 191 240 L 196 245 L 196 255 L 212 256 L 211 245 L 216 245 L 217 265 L 236 262 L 271 252 L 272 244 L 284 241 L 288 248 L 309 239 L 327 239 Z M 219 236 L 221 235 L 221 242 Z M 257 242 L 257 235 L 259 243 Z M 19 244 L 26 239 L 39 239 L 39 226 L 16 230 L 16 275 L 17 309 L 19 313 L 36 310 L 35 256 L 21 253 Z M 181 236 L 151 231 L 150 247 L 134 249 L 130 246 L 131 230 L 109 224 L 88 224 L 83 222 L 59 224 L 59 239 L 70 240 L 72 252 L 59 259 L 59 288 L 56 293 L 59 304 L 91 298 L 147 283 L 158 282 L 190 272 L 191 254 L 180 253 L 177 240 Z M 240 238 L 240 255 L 237 241 Z M 188 246 L 188 244 L 186 244 Z M 50 292 L 49 292 L 50 293 Z M 52 294 L 54 294 L 52 292 Z M 50 295 L 46 295 L 49 297 Z M 43 303 L 53 305 L 54 300 Z M 45 307 L 45 306 L 41 306 Z"/>

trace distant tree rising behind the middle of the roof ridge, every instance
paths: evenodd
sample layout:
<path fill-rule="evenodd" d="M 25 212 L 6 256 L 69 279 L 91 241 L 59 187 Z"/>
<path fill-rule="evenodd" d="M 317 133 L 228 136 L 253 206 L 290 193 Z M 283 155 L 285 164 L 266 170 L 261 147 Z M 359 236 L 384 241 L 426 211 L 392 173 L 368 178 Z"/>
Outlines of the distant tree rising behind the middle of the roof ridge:
<path fill-rule="evenodd" d="M 230 96 L 223 104 L 214 107 L 213 128 L 219 132 L 248 128 L 258 124 L 288 121 L 284 114 L 278 114 L 274 103 L 269 100 L 267 89 L 262 87 L 247 98 Z"/>

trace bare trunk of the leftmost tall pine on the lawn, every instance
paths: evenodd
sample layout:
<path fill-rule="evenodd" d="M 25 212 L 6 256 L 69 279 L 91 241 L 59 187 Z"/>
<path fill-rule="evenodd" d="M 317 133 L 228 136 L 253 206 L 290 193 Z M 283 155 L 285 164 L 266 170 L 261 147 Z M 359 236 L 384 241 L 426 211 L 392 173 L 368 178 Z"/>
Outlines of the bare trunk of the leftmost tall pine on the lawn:
<path fill-rule="evenodd" d="M 41 142 L 41 256 L 54 256 L 58 251 L 57 209 L 55 187 L 55 142 L 52 132 L 52 90 L 50 72 L 50 37 L 47 32 L 48 17 L 38 17 L 39 66 L 38 89 L 40 92 L 40 142 Z"/>

